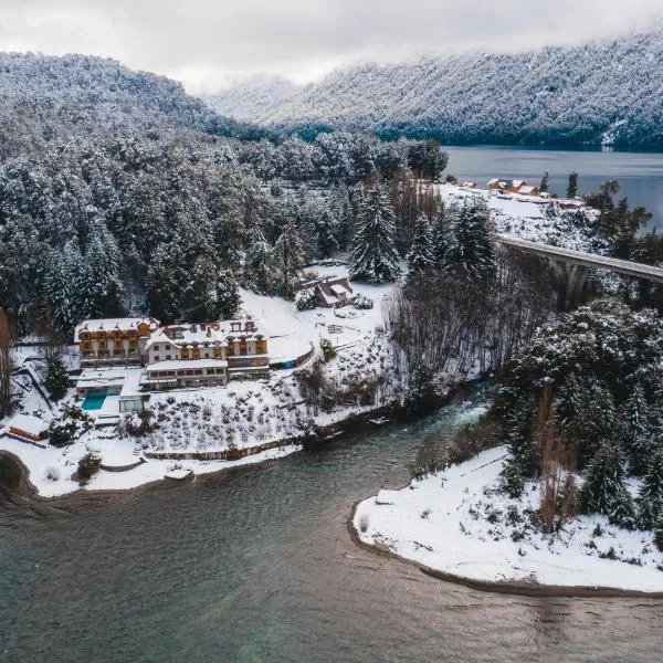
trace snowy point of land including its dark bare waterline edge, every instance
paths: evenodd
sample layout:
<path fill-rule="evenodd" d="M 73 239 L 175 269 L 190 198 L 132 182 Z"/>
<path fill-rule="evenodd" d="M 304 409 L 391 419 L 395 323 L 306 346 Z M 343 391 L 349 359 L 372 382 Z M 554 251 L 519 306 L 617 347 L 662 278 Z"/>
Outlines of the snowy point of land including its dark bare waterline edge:
<path fill-rule="evenodd" d="M 481 504 L 491 495 L 491 514 L 502 513 L 507 506 L 495 492 L 504 451 L 504 445 L 491 448 L 420 482 L 410 481 L 400 488 L 382 490 L 378 496 L 355 502 L 347 519 L 352 541 L 372 554 L 413 565 L 439 580 L 481 591 L 663 599 L 660 556 L 643 558 L 644 565 L 633 566 L 623 551 L 617 559 L 606 559 L 600 554 L 601 544 L 599 550 L 594 546 L 594 552 L 588 554 L 582 533 L 591 530 L 593 522 L 579 518 L 569 523 L 569 532 L 556 538 L 555 545 L 539 535 L 533 535 L 532 540 L 514 538 L 512 543 L 508 532 L 505 535 L 491 529 L 497 520 L 484 522 Z M 628 549 L 629 536 L 639 541 L 642 536 L 607 529 L 603 534 L 608 537 L 606 545 L 617 548 L 619 544 L 620 550 L 622 545 Z M 576 545 L 570 546 L 569 540 Z"/>

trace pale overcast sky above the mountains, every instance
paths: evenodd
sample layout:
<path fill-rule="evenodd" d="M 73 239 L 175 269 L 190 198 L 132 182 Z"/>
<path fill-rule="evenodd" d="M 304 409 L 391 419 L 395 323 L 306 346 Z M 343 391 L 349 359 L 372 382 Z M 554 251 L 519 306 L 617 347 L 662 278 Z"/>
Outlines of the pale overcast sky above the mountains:
<path fill-rule="evenodd" d="M 662 0 L 1 0 L 0 50 L 91 53 L 213 93 L 358 60 L 575 43 L 651 24 Z"/>

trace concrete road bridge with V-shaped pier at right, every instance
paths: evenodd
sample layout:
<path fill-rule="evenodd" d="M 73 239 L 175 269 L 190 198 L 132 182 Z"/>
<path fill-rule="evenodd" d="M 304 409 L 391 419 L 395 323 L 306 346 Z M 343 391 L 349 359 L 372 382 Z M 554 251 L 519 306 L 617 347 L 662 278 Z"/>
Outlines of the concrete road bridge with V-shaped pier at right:
<path fill-rule="evenodd" d="M 569 308 L 577 301 L 585 287 L 589 269 L 607 270 L 633 278 L 645 278 L 655 283 L 663 283 L 663 269 L 661 267 L 541 244 L 509 234 L 493 233 L 493 239 L 503 246 L 509 246 L 516 251 L 532 253 L 548 260 L 556 276 L 561 299 L 560 304 L 564 308 Z"/>

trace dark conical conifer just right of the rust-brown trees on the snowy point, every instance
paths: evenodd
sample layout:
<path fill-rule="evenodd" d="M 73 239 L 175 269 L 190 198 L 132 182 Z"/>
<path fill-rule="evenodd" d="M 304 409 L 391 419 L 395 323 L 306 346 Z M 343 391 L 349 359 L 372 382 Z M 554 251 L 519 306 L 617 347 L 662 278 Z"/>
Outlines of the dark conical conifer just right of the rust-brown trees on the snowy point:
<path fill-rule="evenodd" d="M 615 525 L 632 525 L 633 501 L 624 485 L 623 456 L 617 444 L 601 445 L 589 462 L 580 505 L 585 513 L 603 514 Z"/>

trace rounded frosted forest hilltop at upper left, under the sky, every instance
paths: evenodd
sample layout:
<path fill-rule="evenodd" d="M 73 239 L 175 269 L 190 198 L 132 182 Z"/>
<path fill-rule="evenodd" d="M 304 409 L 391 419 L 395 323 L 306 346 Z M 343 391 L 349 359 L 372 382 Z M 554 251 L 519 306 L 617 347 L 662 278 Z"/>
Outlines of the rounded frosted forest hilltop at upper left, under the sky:
<path fill-rule="evenodd" d="M 2 156 L 55 136 L 118 129 L 193 128 L 252 138 L 257 127 L 224 118 L 180 83 L 113 60 L 0 53 Z"/>

